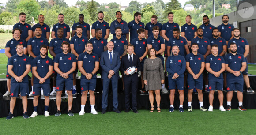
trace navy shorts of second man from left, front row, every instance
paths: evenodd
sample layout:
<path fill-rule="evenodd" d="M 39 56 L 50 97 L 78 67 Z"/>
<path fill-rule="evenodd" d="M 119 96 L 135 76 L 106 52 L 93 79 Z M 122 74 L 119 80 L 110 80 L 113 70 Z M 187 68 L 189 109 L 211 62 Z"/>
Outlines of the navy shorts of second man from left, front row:
<path fill-rule="evenodd" d="M 44 91 L 45 96 L 50 96 L 51 93 L 51 84 L 40 84 L 36 83 L 33 86 L 33 96 L 38 96 L 41 93 L 41 89 Z"/>

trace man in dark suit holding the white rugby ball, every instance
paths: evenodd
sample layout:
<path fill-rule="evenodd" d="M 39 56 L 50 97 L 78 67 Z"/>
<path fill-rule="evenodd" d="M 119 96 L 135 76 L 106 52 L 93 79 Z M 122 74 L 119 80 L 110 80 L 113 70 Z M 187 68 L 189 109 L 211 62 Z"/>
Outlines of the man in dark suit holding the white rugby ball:
<path fill-rule="evenodd" d="M 132 91 L 132 110 L 135 113 L 137 111 L 137 90 L 138 90 L 138 71 L 141 70 L 139 56 L 133 54 L 134 45 L 130 44 L 127 46 L 128 54 L 123 56 L 121 59 L 120 71 L 124 72 L 124 88 L 125 88 L 125 112 L 129 112 L 130 108 L 130 92 Z M 129 75 L 126 71 L 129 67 L 135 66 L 135 73 Z"/>

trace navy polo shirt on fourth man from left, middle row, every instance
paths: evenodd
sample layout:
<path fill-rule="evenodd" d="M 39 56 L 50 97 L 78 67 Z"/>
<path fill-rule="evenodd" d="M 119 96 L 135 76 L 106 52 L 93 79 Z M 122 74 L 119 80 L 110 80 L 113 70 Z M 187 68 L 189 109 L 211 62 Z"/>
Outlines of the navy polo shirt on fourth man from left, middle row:
<path fill-rule="evenodd" d="M 70 40 L 70 44 L 74 44 L 75 52 L 78 55 L 83 53 L 83 51 L 85 50 L 85 44 L 87 44 L 87 42 L 88 42 L 88 38 L 83 34 L 81 38 L 77 37 L 77 35 L 75 34 L 75 36 L 72 37 Z"/>

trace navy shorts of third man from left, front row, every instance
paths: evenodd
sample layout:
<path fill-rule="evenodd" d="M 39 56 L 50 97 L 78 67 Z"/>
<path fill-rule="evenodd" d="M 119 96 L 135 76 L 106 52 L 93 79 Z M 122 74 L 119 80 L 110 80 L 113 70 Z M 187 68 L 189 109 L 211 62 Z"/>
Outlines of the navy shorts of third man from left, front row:
<path fill-rule="evenodd" d="M 65 90 L 73 90 L 73 80 L 71 79 L 59 79 L 56 80 L 56 91 L 62 91 L 64 85 L 66 86 Z"/>

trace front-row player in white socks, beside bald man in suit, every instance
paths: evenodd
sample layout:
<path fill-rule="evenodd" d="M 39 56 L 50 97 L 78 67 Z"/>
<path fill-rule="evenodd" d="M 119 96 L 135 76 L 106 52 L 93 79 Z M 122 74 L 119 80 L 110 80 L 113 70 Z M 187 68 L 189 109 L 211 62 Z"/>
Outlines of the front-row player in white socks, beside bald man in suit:
<path fill-rule="evenodd" d="M 92 53 L 93 45 L 91 42 L 86 44 L 86 51 L 81 53 L 78 57 L 78 68 L 81 72 L 81 111 L 79 115 L 84 115 L 84 107 L 87 101 L 87 92 L 90 93 L 90 106 L 92 114 L 98 114 L 94 108 L 95 106 L 95 95 L 96 89 L 96 75 L 99 69 L 99 58 L 96 53 Z"/>

